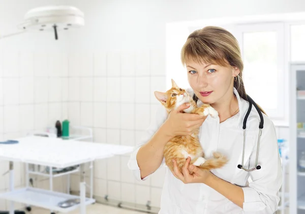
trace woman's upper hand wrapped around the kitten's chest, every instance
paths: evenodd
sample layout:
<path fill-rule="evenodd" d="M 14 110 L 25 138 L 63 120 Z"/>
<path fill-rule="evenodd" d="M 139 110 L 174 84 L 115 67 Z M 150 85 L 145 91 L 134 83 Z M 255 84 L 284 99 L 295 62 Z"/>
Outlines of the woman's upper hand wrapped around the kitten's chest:
<path fill-rule="evenodd" d="M 193 131 L 200 127 L 206 119 L 206 116 L 182 113 L 182 110 L 190 107 L 187 104 L 189 103 L 184 103 L 176 110 L 172 110 L 164 123 L 167 133 L 172 138 L 180 135 L 192 135 Z"/>

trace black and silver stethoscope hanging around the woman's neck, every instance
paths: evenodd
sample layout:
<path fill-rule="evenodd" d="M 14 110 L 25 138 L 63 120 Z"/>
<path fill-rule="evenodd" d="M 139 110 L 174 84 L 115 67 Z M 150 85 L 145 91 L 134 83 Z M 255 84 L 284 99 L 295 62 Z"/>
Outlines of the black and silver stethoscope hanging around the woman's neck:
<path fill-rule="evenodd" d="M 237 165 L 237 168 L 239 169 L 243 169 L 247 172 L 252 172 L 254 170 L 259 170 L 261 169 L 261 166 L 260 165 L 257 165 L 258 163 L 258 149 L 259 149 L 259 143 L 260 143 L 260 137 L 262 135 L 262 129 L 263 129 L 263 126 L 264 126 L 264 119 L 263 119 L 263 115 L 262 115 L 262 112 L 260 111 L 260 109 L 258 108 L 257 104 L 253 101 L 253 99 L 247 95 L 247 98 L 248 98 L 248 101 L 249 101 L 249 108 L 248 108 L 248 111 L 247 111 L 247 114 L 245 116 L 245 118 L 243 118 L 243 125 L 242 125 L 242 129 L 243 129 L 243 148 L 242 148 L 242 164 L 238 164 Z M 198 100 L 198 97 L 194 94 L 193 95 L 193 100 L 197 103 L 197 100 Z M 249 117 L 249 114 L 252 110 L 252 105 L 254 105 L 256 111 L 258 112 L 259 114 L 259 117 L 260 117 L 260 123 L 259 123 L 259 133 L 258 133 L 258 141 L 257 141 L 257 150 L 256 150 L 256 159 L 255 159 L 255 166 L 252 168 L 252 169 L 247 169 L 243 166 L 243 158 L 245 157 L 245 145 L 246 145 L 246 124 L 247 124 L 247 120 L 248 120 L 248 117 Z"/>

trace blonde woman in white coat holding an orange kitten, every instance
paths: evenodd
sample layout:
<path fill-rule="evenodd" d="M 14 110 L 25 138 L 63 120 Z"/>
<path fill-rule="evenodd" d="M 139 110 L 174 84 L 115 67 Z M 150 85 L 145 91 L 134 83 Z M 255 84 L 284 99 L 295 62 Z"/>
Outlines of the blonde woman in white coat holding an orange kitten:
<path fill-rule="evenodd" d="M 182 114 L 180 111 L 189 108 L 186 103 L 167 115 L 160 105 L 142 143 L 130 157 L 129 168 L 138 180 L 147 179 L 163 167 L 163 148 L 171 138 L 189 135 L 201 126 L 199 138 L 205 158 L 219 151 L 229 162 L 221 169 L 208 171 L 189 165 L 188 158 L 182 172 L 167 168 L 159 213 L 274 213 L 280 201 L 282 169 L 275 127 L 265 114 L 258 152 L 261 169 L 248 172 L 237 167 L 242 164 L 242 126 L 249 102 L 242 82 L 243 63 L 236 39 L 215 26 L 197 30 L 182 47 L 181 60 L 192 88 L 190 96 L 195 93 L 197 105 L 209 103 L 219 117 Z M 259 122 L 259 114 L 253 106 L 246 128 L 243 163 L 246 169 L 255 166 Z M 190 174 L 191 171 L 194 174 Z"/>

